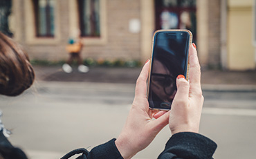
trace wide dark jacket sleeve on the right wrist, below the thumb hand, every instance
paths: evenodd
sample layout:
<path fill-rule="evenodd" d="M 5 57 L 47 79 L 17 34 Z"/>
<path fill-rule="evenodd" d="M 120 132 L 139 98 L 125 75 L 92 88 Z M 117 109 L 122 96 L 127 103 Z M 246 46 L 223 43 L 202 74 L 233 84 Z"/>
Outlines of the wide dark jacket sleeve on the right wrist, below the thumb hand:
<path fill-rule="evenodd" d="M 199 133 L 176 133 L 158 159 L 211 159 L 217 144 Z"/>

